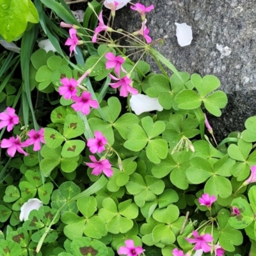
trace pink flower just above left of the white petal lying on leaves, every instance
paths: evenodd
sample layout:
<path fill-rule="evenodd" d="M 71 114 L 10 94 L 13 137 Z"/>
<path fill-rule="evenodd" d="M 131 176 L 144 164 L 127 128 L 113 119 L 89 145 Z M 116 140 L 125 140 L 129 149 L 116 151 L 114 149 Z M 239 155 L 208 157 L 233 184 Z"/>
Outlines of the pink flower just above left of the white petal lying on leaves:
<path fill-rule="evenodd" d="M 132 80 L 128 76 L 125 76 L 123 78 L 117 78 L 115 76 L 112 76 L 111 74 L 109 74 L 109 76 L 111 77 L 111 79 L 118 81 L 117 83 L 109 83 L 109 85 L 115 89 L 121 87 L 120 96 L 127 97 L 128 93 L 134 95 L 138 94 L 138 90 L 131 86 Z"/>

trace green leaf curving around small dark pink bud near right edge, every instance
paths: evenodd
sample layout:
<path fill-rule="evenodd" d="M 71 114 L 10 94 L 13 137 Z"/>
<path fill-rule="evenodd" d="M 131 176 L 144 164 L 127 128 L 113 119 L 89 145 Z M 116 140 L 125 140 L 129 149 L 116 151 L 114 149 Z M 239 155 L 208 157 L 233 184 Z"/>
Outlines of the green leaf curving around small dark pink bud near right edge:
<path fill-rule="evenodd" d="M 236 229 L 248 227 L 254 219 L 254 214 L 250 204 L 244 198 L 235 198 L 232 200 L 231 205 L 237 207 L 240 214 L 230 217 L 228 219 L 228 223 Z"/>

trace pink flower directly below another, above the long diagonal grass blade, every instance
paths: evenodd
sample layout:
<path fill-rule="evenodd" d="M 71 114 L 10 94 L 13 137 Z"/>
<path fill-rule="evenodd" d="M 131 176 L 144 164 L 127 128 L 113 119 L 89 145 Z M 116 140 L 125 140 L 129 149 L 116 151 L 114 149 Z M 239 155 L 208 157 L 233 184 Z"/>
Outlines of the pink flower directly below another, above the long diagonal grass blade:
<path fill-rule="evenodd" d="M 113 170 L 111 169 L 111 163 L 109 163 L 108 159 L 103 159 L 97 161 L 95 156 L 90 156 L 90 159 L 93 163 L 86 163 L 87 166 L 93 168 L 93 175 L 100 175 L 102 172 L 107 176 L 111 177 L 113 175 Z"/>

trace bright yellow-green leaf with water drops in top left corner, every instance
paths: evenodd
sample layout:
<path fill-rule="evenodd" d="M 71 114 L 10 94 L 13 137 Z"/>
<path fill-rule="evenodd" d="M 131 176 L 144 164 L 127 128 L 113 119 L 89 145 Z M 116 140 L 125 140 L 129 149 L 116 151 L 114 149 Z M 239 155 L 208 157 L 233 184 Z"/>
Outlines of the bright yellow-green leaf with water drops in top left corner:
<path fill-rule="evenodd" d="M 4 40 L 12 42 L 24 33 L 29 19 L 28 0 L 0 1 L 0 34 Z"/>

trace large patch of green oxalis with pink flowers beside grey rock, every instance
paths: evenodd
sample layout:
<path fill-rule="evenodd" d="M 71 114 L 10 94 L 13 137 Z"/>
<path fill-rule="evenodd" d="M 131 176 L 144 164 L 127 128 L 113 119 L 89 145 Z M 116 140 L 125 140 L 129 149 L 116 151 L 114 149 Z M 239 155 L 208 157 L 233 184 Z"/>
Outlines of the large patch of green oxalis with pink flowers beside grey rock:
<path fill-rule="evenodd" d="M 164 41 L 149 36 L 153 5 L 130 3 L 140 30 L 114 29 L 127 2 L 104 1 L 108 20 L 88 3 L 83 28 L 42 1 L 65 21 L 79 64 L 31 56 L 31 90 L 61 96 L 51 124 L 24 125 L 14 106 L 0 113 L 0 254 L 256 255 L 256 117 L 218 143 L 202 108 L 221 115 L 219 79 L 178 72 L 153 48 Z"/>

